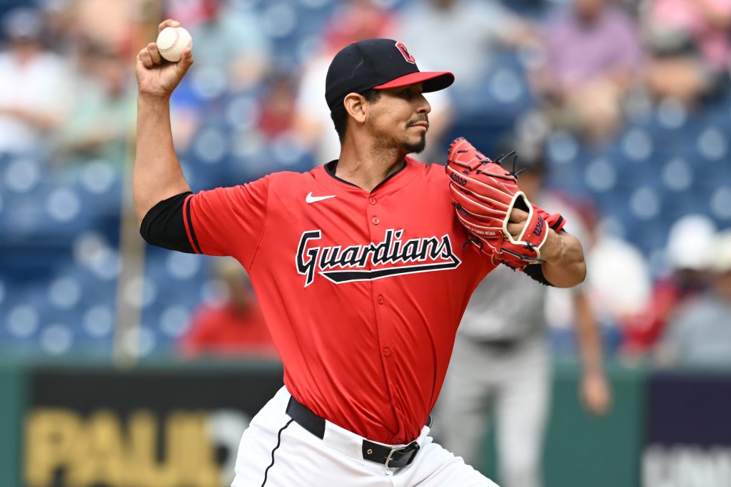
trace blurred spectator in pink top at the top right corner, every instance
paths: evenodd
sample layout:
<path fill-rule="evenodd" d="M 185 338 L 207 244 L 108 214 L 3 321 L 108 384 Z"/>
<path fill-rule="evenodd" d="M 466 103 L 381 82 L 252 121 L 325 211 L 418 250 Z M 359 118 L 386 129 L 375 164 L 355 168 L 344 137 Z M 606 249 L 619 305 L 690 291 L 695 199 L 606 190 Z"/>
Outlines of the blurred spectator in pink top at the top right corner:
<path fill-rule="evenodd" d="M 654 55 L 647 80 L 655 96 L 692 104 L 727 77 L 730 0 L 647 0 L 643 11 Z"/>

